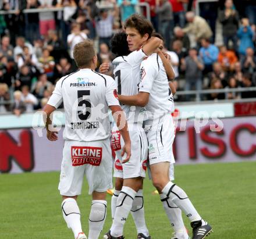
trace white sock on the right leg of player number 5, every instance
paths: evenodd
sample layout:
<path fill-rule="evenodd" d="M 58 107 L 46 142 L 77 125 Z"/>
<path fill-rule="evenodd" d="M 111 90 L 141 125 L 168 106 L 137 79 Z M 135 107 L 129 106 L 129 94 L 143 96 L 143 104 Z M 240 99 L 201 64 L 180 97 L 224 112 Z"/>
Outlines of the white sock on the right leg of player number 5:
<path fill-rule="evenodd" d="M 91 202 L 91 212 L 89 216 L 89 237 L 88 239 L 98 239 L 106 219 L 106 201 L 93 200 Z"/>

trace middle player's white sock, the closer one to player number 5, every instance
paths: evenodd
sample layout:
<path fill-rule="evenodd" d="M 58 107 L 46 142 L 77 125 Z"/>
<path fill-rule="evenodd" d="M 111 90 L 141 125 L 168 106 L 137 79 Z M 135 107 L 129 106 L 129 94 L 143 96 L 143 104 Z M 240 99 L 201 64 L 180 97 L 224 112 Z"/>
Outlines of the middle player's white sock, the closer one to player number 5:
<path fill-rule="evenodd" d="M 136 191 L 132 188 L 122 187 L 122 191 L 120 191 L 118 201 L 116 202 L 116 212 L 111 227 L 111 235 L 113 237 L 123 236 L 123 226 L 133 205 L 135 195 Z"/>

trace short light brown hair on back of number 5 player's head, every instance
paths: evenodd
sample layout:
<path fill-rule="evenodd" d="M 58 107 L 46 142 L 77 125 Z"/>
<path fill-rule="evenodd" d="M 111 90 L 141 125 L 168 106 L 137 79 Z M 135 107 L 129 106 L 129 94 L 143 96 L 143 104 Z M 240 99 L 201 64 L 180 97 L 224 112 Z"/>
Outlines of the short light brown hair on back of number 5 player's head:
<path fill-rule="evenodd" d="M 84 40 L 74 46 L 73 56 L 77 67 L 90 66 L 93 57 L 96 55 L 93 41 Z"/>

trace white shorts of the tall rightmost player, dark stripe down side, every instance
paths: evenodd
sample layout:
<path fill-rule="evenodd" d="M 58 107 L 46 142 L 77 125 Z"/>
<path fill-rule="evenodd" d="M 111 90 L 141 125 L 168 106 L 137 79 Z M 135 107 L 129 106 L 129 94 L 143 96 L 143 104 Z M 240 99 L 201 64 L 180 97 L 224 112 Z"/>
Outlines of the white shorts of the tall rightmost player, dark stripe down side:
<path fill-rule="evenodd" d="M 148 139 L 148 159 L 150 165 L 160 162 L 175 163 L 172 144 L 175 138 L 175 123 L 172 115 L 154 120 L 145 120 L 144 130 Z"/>

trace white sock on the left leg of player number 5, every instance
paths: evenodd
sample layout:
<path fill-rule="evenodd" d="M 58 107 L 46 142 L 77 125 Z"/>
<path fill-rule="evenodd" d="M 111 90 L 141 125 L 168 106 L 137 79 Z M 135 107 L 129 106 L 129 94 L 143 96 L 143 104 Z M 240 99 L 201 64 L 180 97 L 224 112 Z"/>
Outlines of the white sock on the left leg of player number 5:
<path fill-rule="evenodd" d="M 62 202 L 62 213 L 67 223 L 67 227 L 71 228 L 74 233 L 74 238 L 82 232 L 80 222 L 80 210 L 74 198 L 66 198 Z"/>

